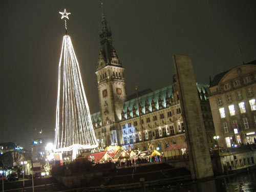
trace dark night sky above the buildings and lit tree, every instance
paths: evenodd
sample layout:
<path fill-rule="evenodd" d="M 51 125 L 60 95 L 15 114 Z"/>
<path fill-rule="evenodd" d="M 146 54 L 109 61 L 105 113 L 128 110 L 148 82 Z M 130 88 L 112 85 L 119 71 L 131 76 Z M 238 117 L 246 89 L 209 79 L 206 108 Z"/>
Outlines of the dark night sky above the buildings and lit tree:
<path fill-rule="evenodd" d="M 195 3 L 196 2 L 196 3 Z M 78 58 L 91 113 L 99 111 L 96 65 L 100 1 L 0 1 L 0 142 L 28 147 L 34 129 L 53 131 L 65 33 Z M 172 55 L 191 56 L 197 82 L 256 59 L 255 1 L 104 1 L 127 93 L 172 83 Z"/>

